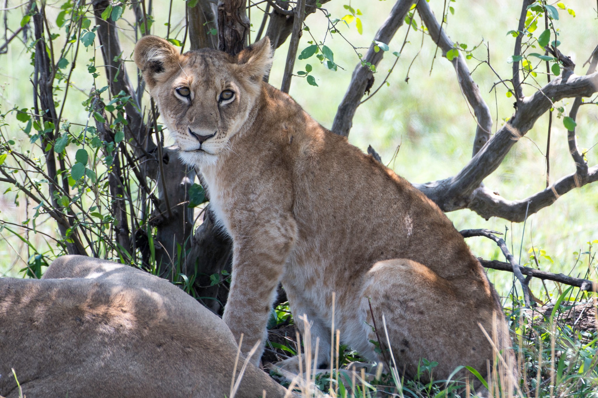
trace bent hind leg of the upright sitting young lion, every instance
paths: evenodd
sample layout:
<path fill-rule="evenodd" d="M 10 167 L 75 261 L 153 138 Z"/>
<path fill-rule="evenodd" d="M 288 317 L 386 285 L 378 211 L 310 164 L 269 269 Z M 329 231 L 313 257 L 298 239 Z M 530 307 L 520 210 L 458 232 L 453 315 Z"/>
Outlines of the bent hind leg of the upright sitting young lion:
<path fill-rule="evenodd" d="M 473 366 L 485 375 L 492 347 L 477 323 L 488 324 L 492 301 L 488 310 L 472 300 L 468 292 L 457 291 L 450 281 L 416 261 L 380 261 L 368 271 L 364 283 L 360 311 L 369 326 L 367 341 L 361 345 L 369 344 L 370 352 L 376 352 L 371 360 L 393 366 L 390 341 L 399 373 L 409 378 L 430 378 L 429 372 L 422 372 L 423 359 L 438 363 L 432 369 L 434 380 L 446 380 L 460 365 Z M 377 341 L 381 349 L 370 341 Z M 456 377 L 463 375 L 465 371 Z"/>

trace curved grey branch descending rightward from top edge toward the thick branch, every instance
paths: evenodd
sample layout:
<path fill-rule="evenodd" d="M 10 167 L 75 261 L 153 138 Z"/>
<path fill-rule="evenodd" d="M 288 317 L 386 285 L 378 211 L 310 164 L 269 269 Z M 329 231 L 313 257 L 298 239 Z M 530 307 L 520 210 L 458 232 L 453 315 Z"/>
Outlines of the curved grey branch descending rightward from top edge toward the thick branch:
<path fill-rule="evenodd" d="M 434 13 L 430 9 L 428 2 L 420 1 L 417 4 L 417 11 L 422 17 L 423 23 L 428 27 L 428 32 L 432 37 L 432 40 L 437 43 L 443 50 L 443 56 L 446 57 L 448 51 L 453 50 L 454 44 L 447 36 L 446 32 L 440 30 L 440 25 L 434 17 Z M 439 35 L 440 33 L 440 35 Z M 439 38 L 440 36 L 440 38 Z M 459 50 L 457 50 L 459 51 Z M 457 73 L 457 81 L 459 81 L 459 87 L 463 92 L 466 100 L 469 102 L 471 107 L 474 109 L 475 118 L 477 119 L 477 128 L 475 129 L 475 140 L 473 154 L 475 155 L 481 149 L 481 147 L 490 140 L 490 132 L 492 131 L 492 115 L 490 114 L 490 108 L 487 106 L 486 101 L 480 93 L 480 88 L 475 84 L 474 79 L 471 78 L 471 73 L 467 67 L 465 57 L 459 51 L 459 56 L 454 57 L 451 61 L 454 70 Z"/>

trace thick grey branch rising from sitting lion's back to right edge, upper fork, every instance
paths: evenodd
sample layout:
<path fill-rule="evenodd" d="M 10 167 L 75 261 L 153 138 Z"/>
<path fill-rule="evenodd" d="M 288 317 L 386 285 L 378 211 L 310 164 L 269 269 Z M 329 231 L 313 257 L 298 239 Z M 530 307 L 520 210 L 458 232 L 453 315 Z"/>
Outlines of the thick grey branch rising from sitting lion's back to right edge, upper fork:
<path fill-rule="evenodd" d="M 589 97 L 598 91 L 598 72 L 587 76 L 557 77 L 541 90 L 521 99 L 517 112 L 454 177 L 426 184 L 414 184 L 443 211 L 467 208 L 472 193 L 505 158 L 511 147 L 526 134 L 538 118 L 563 98 Z M 555 184 L 556 185 L 556 184 Z"/>

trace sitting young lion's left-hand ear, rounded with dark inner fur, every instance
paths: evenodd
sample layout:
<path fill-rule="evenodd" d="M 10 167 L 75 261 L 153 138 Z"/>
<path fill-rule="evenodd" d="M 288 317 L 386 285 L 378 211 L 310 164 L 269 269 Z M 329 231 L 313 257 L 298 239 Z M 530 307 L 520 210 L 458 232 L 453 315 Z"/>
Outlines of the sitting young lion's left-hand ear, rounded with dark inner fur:
<path fill-rule="evenodd" d="M 157 73 L 164 72 L 179 61 L 179 50 L 157 36 L 145 36 L 135 45 L 135 63 L 144 72 L 144 80 L 152 88 Z"/>

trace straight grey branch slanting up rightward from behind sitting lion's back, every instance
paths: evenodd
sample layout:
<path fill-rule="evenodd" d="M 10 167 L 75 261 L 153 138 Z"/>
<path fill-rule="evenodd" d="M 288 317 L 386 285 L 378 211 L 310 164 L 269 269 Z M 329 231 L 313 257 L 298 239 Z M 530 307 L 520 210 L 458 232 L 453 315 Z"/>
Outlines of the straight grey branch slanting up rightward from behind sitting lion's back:
<path fill-rule="evenodd" d="M 392 40 L 396 31 L 401 27 L 405 16 L 407 15 L 411 4 L 414 0 L 397 0 L 395 6 L 390 11 L 390 15 L 386 18 L 386 21 L 382 24 L 376 36 L 375 41 L 383 42 L 388 44 Z M 374 51 L 374 45 L 372 44 L 367 54 L 363 58 L 364 61 L 370 62 L 374 66 L 378 66 L 384 51 L 380 50 L 376 53 Z M 368 82 L 372 81 L 374 74 L 368 66 L 364 66 L 361 62 L 357 64 L 351 82 L 347 88 L 347 92 L 344 94 L 343 100 L 338 106 L 336 115 L 334 116 L 334 122 L 332 122 L 332 132 L 344 137 L 349 136 L 349 131 L 353 125 L 353 116 L 355 116 L 355 110 L 359 106 L 361 97 L 365 94 L 365 88 L 368 86 Z"/>

